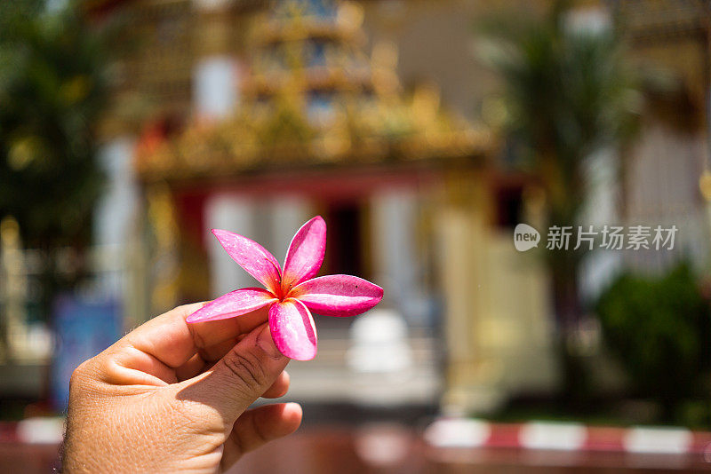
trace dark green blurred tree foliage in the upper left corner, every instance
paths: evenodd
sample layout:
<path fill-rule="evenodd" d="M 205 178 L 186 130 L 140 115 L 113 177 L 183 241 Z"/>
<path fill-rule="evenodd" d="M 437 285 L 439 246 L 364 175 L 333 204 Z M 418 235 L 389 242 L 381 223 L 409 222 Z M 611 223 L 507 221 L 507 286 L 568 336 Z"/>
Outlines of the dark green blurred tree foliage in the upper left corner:
<path fill-rule="evenodd" d="M 46 4 L 0 3 L 0 218 L 52 249 L 85 243 L 91 228 L 105 54 L 81 12 Z"/>

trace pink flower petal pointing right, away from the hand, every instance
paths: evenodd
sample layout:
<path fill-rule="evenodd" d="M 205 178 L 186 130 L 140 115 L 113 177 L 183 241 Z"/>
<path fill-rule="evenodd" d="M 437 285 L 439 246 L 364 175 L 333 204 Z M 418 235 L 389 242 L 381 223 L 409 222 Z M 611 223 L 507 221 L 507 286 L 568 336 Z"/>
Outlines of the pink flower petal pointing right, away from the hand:
<path fill-rule="evenodd" d="M 292 289 L 308 309 L 326 316 L 356 316 L 379 304 L 383 288 L 351 275 L 326 275 L 306 280 Z"/>

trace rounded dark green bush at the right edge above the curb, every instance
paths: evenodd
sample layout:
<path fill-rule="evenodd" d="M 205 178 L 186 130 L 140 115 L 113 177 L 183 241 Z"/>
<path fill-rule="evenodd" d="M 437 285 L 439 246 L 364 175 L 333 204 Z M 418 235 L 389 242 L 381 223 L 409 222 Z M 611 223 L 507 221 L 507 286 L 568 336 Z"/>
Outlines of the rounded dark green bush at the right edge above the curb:
<path fill-rule="evenodd" d="M 711 315 L 691 266 L 659 279 L 623 274 L 600 297 L 597 313 L 636 395 L 658 399 L 670 417 L 709 364 Z"/>

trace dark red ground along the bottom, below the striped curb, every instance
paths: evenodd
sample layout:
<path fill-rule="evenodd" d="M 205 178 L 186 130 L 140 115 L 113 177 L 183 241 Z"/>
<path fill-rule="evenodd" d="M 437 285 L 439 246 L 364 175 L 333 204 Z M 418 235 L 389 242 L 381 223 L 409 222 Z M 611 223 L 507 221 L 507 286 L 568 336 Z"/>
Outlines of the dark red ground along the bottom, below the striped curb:
<path fill-rule="evenodd" d="M 0 473 L 51 472 L 56 445 L 0 443 Z M 659 473 L 711 471 L 704 454 L 437 448 L 397 425 L 308 427 L 247 454 L 231 473 Z"/>

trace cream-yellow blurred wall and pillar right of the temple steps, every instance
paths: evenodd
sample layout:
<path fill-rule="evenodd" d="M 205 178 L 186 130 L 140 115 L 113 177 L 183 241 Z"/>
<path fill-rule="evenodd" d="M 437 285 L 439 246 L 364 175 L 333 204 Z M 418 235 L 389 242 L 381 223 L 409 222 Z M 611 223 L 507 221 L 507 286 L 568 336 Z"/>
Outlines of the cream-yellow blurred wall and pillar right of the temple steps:
<path fill-rule="evenodd" d="M 445 299 L 450 413 L 491 411 L 515 392 L 555 387 L 544 263 L 491 225 L 482 176 L 453 175 L 435 228 Z"/>

